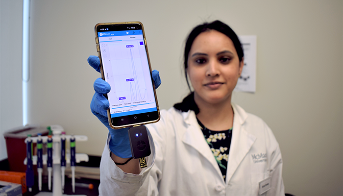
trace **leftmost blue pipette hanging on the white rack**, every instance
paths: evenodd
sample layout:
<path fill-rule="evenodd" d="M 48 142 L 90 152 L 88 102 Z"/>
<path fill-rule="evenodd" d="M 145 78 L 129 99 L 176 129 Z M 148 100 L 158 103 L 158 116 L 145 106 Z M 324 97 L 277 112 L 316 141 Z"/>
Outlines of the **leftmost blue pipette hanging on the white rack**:
<path fill-rule="evenodd" d="M 26 143 L 26 157 L 27 157 L 27 164 L 26 164 L 26 187 L 28 187 L 28 191 L 32 191 L 32 187 L 34 185 L 34 174 L 32 168 L 32 140 L 31 134 L 27 135 L 27 143 Z"/>

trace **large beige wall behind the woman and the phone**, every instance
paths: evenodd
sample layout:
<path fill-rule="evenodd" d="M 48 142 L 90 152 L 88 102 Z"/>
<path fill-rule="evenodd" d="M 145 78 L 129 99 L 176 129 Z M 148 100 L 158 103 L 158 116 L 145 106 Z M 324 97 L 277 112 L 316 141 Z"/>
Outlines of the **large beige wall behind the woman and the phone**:
<path fill-rule="evenodd" d="M 239 35 L 257 35 L 257 91 L 234 93 L 233 101 L 273 130 L 286 192 L 343 195 L 342 0 L 31 0 L 28 122 L 85 134 L 77 152 L 100 155 L 108 131 L 89 108 L 100 77 L 87 64 L 97 55 L 94 25 L 145 25 L 162 78 L 158 100 L 169 108 L 188 93 L 181 69 L 187 33 L 216 19 Z"/>

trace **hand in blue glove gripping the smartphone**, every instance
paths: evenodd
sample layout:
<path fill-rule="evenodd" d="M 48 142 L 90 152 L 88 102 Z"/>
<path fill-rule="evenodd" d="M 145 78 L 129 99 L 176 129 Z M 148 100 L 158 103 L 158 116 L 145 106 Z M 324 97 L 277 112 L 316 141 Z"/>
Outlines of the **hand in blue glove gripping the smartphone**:
<path fill-rule="evenodd" d="M 87 59 L 90 66 L 92 66 L 97 72 L 100 72 L 100 61 L 98 56 L 89 56 Z M 152 78 L 155 83 L 155 87 L 161 85 L 161 79 L 159 72 L 157 70 L 152 71 Z M 98 78 L 94 82 L 95 94 L 91 101 L 92 113 L 98 117 L 101 123 L 103 123 L 109 130 L 111 139 L 109 142 L 109 148 L 115 155 L 122 158 L 132 157 L 130 141 L 128 138 L 127 130 L 123 129 L 112 129 L 108 123 L 107 109 L 109 107 L 109 102 L 103 94 L 107 94 L 111 90 L 111 86 L 103 79 Z"/>

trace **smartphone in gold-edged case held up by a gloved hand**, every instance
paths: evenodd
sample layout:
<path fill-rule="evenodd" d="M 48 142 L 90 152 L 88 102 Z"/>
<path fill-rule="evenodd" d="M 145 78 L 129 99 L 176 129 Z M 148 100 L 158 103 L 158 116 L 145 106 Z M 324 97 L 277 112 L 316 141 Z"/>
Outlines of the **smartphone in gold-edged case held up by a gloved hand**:
<path fill-rule="evenodd" d="M 156 123 L 160 120 L 151 75 L 147 41 L 141 22 L 95 25 L 102 79 L 111 85 L 105 95 L 111 128 Z"/>

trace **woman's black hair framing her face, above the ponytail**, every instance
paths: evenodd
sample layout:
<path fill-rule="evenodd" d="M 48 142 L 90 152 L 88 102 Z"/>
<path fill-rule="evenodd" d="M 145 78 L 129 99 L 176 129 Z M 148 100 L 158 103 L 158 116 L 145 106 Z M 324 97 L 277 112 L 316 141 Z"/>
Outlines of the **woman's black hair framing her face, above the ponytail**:
<path fill-rule="evenodd" d="M 184 53 L 184 69 L 185 69 L 185 76 L 186 76 L 186 81 L 189 90 L 191 91 L 191 86 L 189 85 L 188 82 L 188 77 L 187 77 L 187 68 L 188 68 L 188 54 L 191 50 L 192 44 L 196 37 L 205 31 L 208 30 L 216 30 L 218 32 L 221 32 L 222 34 L 226 35 L 228 38 L 230 38 L 233 42 L 233 45 L 235 46 L 235 49 L 238 54 L 238 58 L 240 62 L 242 61 L 244 57 L 243 49 L 240 40 L 238 39 L 236 33 L 230 28 L 230 26 L 222 23 L 221 21 L 214 21 L 212 23 L 204 23 L 202 25 L 196 26 L 191 33 L 188 35 L 188 38 L 186 40 L 186 46 L 185 46 L 185 53 Z"/>

